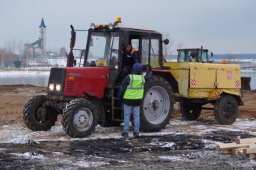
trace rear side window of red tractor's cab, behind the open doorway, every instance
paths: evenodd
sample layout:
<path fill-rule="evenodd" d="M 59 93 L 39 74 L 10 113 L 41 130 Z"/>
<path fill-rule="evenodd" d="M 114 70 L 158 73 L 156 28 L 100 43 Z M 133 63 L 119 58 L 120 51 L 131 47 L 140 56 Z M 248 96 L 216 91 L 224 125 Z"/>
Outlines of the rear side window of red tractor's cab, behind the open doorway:
<path fill-rule="evenodd" d="M 153 69 L 161 65 L 161 36 L 146 35 L 142 37 L 141 63 Z"/>

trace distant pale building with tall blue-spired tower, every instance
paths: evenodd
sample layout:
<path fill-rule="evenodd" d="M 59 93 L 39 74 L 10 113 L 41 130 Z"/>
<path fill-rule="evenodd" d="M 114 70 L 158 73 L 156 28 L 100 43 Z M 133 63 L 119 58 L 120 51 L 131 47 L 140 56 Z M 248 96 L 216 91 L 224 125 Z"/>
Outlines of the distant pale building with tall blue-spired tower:
<path fill-rule="evenodd" d="M 24 57 L 31 58 L 46 54 L 46 25 L 43 18 L 39 26 L 39 34 L 38 40 L 31 44 L 24 44 Z"/>

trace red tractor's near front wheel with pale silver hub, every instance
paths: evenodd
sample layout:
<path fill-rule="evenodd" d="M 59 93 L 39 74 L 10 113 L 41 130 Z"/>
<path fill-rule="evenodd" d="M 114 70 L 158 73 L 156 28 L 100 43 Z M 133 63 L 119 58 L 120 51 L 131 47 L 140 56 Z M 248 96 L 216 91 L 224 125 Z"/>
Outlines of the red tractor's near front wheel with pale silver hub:
<path fill-rule="evenodd" d="M 61 123 L 70 137 L 91 135 L 97 125 L 95 104 L 85 98 L 70 101 L 65 106 Z"/>

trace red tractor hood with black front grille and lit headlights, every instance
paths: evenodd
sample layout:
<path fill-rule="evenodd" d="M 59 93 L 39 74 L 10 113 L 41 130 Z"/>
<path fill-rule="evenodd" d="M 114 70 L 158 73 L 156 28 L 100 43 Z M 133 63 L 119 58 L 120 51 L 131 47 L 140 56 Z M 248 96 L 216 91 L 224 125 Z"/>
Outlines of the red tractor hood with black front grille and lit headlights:
<path fill-rule="evenodd" d="M 86 93 L 102 98 L 108 79 L 107 67 L 52 68 L 48 94 L 81 98 Z"/>

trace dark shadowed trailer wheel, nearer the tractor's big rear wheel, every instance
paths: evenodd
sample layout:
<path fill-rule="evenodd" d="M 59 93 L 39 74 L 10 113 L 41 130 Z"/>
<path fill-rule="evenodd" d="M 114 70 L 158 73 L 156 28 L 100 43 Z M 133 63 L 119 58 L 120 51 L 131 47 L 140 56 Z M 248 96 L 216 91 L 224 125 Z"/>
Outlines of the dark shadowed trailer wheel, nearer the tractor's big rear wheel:
<path fill-rule="evenodd" d="M 184 120 L 197 120 L 201 115 L 202 106 L 199 104 L 188 104 L 181 101 L 178 104 L 178 112 Z"/>

